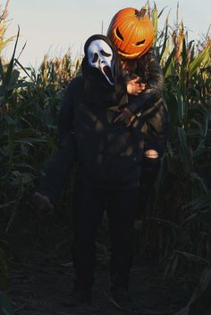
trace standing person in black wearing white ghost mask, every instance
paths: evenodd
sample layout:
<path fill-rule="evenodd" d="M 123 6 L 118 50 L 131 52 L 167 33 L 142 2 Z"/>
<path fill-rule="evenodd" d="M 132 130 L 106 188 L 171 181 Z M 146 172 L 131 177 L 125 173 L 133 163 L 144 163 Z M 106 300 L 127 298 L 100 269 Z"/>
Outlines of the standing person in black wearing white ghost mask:
<path fill-rule="evenodd" d="M 105 210 L 112 242 L 111 291 L 122 288 L 125 299 L 128 297 L 131 233 L 139 206 L 144 146 L 144 137 L 138 129 L 114 124 L 128 102 L 121 60 L 114 46 L 107 37 L 94 35 L 85 43 L 84 53 L 81 76 L 72 79 L 67 87 L 58 115 L 61 149 L 56 176 L 46 178 L 48 183 L 40 189 L 41 194 L 54 199 L 57 194 L 54 183 L 58 188 L 58 183 L 63 183 L 61 177 L 67 177 L 76 163 L 72 241 L 76 279 L 70 297 L 72 303 L 92 300 L 95 241 Z M 51 194 L 47 190 L 49 182 L 53 186 Z"/>

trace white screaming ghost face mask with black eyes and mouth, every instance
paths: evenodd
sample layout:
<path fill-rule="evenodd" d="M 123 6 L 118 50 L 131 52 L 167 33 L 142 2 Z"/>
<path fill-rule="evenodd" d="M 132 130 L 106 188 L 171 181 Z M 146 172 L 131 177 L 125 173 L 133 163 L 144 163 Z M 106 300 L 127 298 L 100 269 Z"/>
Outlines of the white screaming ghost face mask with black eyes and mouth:
<path fill-rule="evenodd" d="M 102 39 L 93 40 L 88 47 L 89 66 L 100 70 L 105 79 L 114 85 L 114 54 L 111 47 Z"/>

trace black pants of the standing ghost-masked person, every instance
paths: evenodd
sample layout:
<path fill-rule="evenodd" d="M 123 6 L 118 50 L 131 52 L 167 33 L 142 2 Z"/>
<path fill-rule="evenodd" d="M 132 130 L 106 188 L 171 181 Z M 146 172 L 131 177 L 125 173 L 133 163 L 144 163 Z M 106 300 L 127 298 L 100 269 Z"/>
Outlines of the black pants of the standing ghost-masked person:
<path fill-rule="evenodd" d="M 94 283 L 95 241 L 104 211 L 111 234 L 110 277 L 113 289 L 128 287 L 132 263 L 132 227 L 139 200 L 139 189 L 106 191 L 80 184 L 76 206 L 72 259 L 80 286 Z"/>

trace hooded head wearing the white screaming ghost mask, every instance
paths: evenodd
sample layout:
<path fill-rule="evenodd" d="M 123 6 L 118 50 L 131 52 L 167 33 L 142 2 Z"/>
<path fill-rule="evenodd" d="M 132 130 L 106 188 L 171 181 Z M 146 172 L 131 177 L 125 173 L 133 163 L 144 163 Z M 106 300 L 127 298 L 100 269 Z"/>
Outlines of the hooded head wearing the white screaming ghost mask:
<path fill-rule="evenodd" d="M 81 70 L 91 99 L 109 99 L 118 93 L 123 82 L 120 57 L 110 39 L 101 34 L 86 41 Z"/>

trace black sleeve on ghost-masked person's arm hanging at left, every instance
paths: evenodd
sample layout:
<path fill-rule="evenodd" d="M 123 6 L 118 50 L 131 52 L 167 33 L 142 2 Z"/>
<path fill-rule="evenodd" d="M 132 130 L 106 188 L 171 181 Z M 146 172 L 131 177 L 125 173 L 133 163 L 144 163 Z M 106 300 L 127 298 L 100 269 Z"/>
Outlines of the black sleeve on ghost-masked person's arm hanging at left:
<path fill-rule="evenodd" d="M 73 81 L 73 80 L 72 80 Z M 71 82 L 67 87 L 58 113 L 58 150 L 46 175 L 41 179 L 39 192 L 55 202 L 59 199 L 77 160 L 76 142 L 73 128 L 74 86 Z"/>

